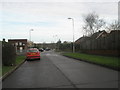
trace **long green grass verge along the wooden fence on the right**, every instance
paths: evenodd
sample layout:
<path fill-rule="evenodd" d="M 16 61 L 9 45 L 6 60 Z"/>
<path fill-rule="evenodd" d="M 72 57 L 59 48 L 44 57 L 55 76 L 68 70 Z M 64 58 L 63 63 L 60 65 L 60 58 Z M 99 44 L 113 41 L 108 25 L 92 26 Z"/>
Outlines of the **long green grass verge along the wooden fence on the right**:
<path fill-rule="evenodd" d="M 83 54 L 83 53 L 63 53 L 63 55 L 73 57 L 76 59 L 82 59 L 85 61 L 94 62 L 94 63 L 105 65 L 105 66 L 120 68 L 120 65 L 118 63 L 120 58 L 118 57 L 89 55 L 89 54 Z"/>

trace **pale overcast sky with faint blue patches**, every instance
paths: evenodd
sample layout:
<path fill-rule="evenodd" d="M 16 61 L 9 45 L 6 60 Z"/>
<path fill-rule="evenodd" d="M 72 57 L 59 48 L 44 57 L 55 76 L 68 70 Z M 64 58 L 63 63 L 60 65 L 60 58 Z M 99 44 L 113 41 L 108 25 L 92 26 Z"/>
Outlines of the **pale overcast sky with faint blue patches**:
<path fill-rule="evenodd" d="M 83 16 L 96 12 L 111 23 L 118 19 L 118 0 L 1 0 L 0 40 L 28 39 L 34 42 L 72 41 L 72 20 L 75 40 L 83 36 Z"/>

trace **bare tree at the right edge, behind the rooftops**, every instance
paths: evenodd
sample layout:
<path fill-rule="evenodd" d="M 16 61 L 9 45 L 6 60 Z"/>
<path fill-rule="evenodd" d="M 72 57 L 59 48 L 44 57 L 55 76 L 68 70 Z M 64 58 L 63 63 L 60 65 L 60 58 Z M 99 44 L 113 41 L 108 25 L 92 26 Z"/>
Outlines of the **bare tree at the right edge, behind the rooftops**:
<path fill-rule="evenodd" d="M 106 27 L 109 31 L 111 30 L 120 30 L 120 22 L 114 20 L 111 24 Z"/>

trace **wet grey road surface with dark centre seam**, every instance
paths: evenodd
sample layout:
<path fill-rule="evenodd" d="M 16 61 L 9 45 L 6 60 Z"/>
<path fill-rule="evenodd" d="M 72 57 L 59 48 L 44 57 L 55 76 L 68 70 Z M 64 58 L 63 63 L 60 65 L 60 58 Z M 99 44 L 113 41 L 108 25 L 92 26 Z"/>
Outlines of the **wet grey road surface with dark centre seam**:
<path fill-rule="evenodd" d="M 3 81 L 3 88 L 118 88 L 118 72 L 61 56 L 41 53 Z"/>

